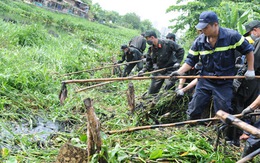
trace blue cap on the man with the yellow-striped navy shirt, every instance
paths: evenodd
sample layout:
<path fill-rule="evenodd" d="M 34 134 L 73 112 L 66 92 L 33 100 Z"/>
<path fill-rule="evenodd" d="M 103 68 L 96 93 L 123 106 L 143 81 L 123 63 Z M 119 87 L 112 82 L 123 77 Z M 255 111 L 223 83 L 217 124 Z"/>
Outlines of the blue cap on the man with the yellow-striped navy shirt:
<path fill-rule="evenodd" d="M 218 16 L 213 11 L 204 11 L 200 14 L 199 23 L 195 26 L 198 30 L 202 30 L 209 23 L 218 22 Z"/>

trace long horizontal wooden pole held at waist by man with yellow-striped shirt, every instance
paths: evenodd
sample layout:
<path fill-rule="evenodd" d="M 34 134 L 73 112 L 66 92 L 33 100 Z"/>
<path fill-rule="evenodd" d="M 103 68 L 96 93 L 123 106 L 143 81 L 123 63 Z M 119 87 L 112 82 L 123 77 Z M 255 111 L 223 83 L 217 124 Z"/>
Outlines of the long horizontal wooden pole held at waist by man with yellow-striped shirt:
<path fill-rule="evenodd" d="M 175 76 L 176 79 L 244 79 L 245 76 Z M 260 78 L 260 76 L 255 76 Z M 147 79 L 170 79 L 170 76 L 151 76 L 151 77 L 119 77 L 119 78 L 99 78 L 99 79 L 79 79 L 65 80 L 62 83 L 87 83 L 87 82 L 105 82 L 105 81 L 125 81 L 125 80 L 147 80 Z"/>

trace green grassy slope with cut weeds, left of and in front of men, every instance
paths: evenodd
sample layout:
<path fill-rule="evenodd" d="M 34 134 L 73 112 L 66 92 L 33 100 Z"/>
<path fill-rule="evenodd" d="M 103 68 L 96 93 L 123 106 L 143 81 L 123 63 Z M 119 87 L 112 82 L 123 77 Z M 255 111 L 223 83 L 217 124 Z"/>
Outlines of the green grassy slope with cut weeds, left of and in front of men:
<path fill-rule="evenodd" d="M 17 135 L 9 130 L 13 136 L 5 138 L 5 143 L 16 148 L 2 148 L 2 160 L 52 162 L 59 147 L 68 140 L 86 147 L 86 143 L 80 141 L 86 133 L 83 108 L 86 97 L 94 99 L 103 131 L 134 126 L 136 117 L 127 115 L 127 82 L 82 93 L 74 93 L 74 90 L 89 84 L 67 85 L 68 98 L 63 106 L 59 104 L 58 94 L 63 80 L 110 77 L 110 70 L 61 75 L 111 62 L 112 56 L 120 53 L 120 45 L 139 34 L 138 31 L 49 12 L 20 1 L 2 0 L 0 16 L 17 21 L 16 24 L 0 24 L 0 129 L 10 127 L 7 121 L 34 126 L 37 116 L 70 124 L 69 132 L 56 133 L 48 138 L 44 147 L 39 147 L 30 134 Z M 137 96 L 149 85 L 149 81 L 133 83 Z M 184 127 L 112 136 L 103 133 L 104 150 L 109 152 L 109 162 L 127 162 L 132 158 L 145 162 L 161 157 L 172 158 L 175 162 L 223 162 L 239 157 L 234 149 L 231 155 L 223 155 L 222 148 L 214 152 L 211 144 L 215 135 L 209 135 L 208 130 L 211 128 Z M 5 143 L 0 141 L 0 145 Z"/>

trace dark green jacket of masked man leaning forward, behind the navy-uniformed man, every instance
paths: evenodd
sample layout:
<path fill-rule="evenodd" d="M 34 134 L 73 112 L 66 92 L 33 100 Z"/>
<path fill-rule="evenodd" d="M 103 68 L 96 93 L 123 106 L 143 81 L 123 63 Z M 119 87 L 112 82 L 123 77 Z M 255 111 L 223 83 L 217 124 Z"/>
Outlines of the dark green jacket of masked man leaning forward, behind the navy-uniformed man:
<path fill-rule="evenodd" d="M 154 64 L 158 68 L 168 68 L 175 63 L 181 63 L 184 49 L 172 40 L 158 39 L 158 46 L 150 46 L 147 55 L 147 69 L 151 70 Z"/>

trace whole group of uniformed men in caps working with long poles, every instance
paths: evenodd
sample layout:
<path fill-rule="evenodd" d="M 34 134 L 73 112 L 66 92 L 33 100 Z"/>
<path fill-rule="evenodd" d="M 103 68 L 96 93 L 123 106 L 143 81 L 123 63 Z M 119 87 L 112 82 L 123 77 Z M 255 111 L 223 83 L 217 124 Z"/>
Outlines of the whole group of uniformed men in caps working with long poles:
<path fill-rule="evenodd" d="M 189 102 L 188 119 L 199 119 L 207 105 L 213 100 L 214 111 L 224 110 L 230 114 L 247 114 L 259 108 L 260 105 L 260 21 L 252 21 L 246 24 L 246 34 L 242 36 L 237 31 L 219 26 L 219 20 L 215 12 L 204 11 L 200 14 L 199 23 L 195 26 L 200 31 L 199 36 L 193 42 L 184 63 L 180 64 L 184 57 L 184 49 L 175 42 L 175 35 L 169 33 L 167 39 L 159 39 L 154 31 L 148 30 L 141 36 L 133 38 L 129 45 L 121 47 L 127 60 L 141 60 L 146 43 L 149 45 L 146 54 L 146 64 L 138 65 L 138 76 L 146 71 L 155 71 L 153 76 L 170 76 L 170 79 L 151 79 L 149 94 L 158 93 L 165 81 L 165 89 L 171 89 L 176 81 L 176 76 L 184 75 L 194 69 L 199 63 L 201 76 L 235 76 L 244 75 L 245 79 L 206 79 L 196 80 L 196 87 Z M 245 38 L 251 35 L 253 45 Z M 138 46 L 136 40 L 142 40 L 142 46 Z M 131 57 L 128 57 L 128 55 Z M 237 54 L 242 54 L 237 63 Z M 124 58 L 119 61 L 123 62 Z M 142 62 L 140 62 L 142 63 Z M 137 63 L 125 67 L 123 76 L 130 74 Z M 240 65 L 240 67 L 239 67 Z M 242 74 L 241 74 L 241 71 Z M 235 89 L 234 89 L 235 88 Z M 234 91 L 235 90 L 235 91 Z M 180 89 L 176 91 L 183 95 Z M 246 109 L 244 109 L 246 108 Z M 255 123 L 260 127 L 260 122 Z M 233 134 L 232 134 L 233 135 Z M 242 139 L 247 139 L 243 156 L 260 147 L 259 139 L 244 133 Z M 239 146 L 233 136 L 228 139 L 233 145 Z"/>

